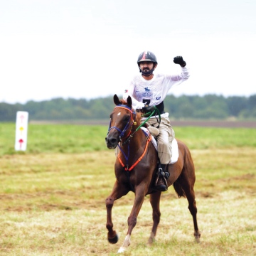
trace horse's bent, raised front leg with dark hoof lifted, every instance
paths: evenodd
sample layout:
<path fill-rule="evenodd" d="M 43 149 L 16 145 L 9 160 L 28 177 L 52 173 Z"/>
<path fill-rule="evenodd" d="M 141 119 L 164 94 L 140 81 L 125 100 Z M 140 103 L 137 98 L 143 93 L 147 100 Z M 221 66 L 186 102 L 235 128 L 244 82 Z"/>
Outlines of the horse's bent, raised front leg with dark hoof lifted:
<path fill-rule="evenodd" d="M 118 235 L 117 235 L 116 231 L 113 230 L 112 207 L 114 205 L 115 200 L 126 195 L 128 192 L 129 192 L 129 190 L 125 186 L 121 186 L 121 184 L 118 181 L 116 181 L 114 183 L 112 193 L 110 194 L 110 196 L 107 197 L 107 199 L 105 201 L 106 208 L 107 208 L 107 224 L 106 224 L 106 228 L 108 230 L 107 240 L 112 244 L 115 244 L 118 241 Z"/>

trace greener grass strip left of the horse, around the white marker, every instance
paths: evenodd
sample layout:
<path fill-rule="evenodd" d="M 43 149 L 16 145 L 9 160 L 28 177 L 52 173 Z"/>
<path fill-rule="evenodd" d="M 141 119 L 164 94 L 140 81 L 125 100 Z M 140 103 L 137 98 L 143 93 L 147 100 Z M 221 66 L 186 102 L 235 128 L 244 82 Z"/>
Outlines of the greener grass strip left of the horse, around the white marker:
<path fill-rule="evenodd" d="M 105 126 L 73 124 L 28 124 L 26 154 L 41 152 L 81 153 L 105 150 Z M 14 151 L 15 124 L 0 122 L 0 156 Z"/>

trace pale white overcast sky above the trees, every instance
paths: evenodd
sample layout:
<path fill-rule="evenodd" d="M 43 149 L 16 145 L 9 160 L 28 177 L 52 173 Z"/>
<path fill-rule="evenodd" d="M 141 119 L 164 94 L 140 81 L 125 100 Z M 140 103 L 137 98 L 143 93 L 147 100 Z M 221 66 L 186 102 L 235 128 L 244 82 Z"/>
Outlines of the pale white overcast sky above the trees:
<path fill-rule="evenodd" d="M 255 0 L 0 0 L 0 102 L 122 95 L 155 53 L 170 94 L 256 94 Z"/>

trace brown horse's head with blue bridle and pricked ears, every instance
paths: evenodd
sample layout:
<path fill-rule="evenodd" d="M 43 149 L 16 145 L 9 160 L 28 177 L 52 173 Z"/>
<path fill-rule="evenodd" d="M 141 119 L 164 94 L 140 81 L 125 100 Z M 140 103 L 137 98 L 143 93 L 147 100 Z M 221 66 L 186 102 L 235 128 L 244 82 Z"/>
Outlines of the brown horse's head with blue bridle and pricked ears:
<path fill-rule="evenodd" d="M 113 112 L 110 114 L 110 127 L 105 138 L 107 147 L 115 149 L 122 139 L 125 139 L 131 134 L 136 113 L 132 109 L 132 98 L 128 97 L 127 101 L 119 100 L 117 95 L 114 95 Z"/>

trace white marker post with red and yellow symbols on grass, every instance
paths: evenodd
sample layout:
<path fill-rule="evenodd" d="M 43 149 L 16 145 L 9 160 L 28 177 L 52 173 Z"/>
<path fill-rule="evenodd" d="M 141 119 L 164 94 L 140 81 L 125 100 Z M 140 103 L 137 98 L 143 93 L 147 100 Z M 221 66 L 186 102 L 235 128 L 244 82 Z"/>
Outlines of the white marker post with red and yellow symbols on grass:
<path fill-rule="evenodd" d="M 15 150 L 26 150 L 28 138 L 28 112 L 18 111 L 16 114 Z"/>

